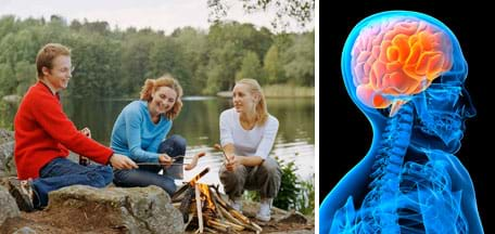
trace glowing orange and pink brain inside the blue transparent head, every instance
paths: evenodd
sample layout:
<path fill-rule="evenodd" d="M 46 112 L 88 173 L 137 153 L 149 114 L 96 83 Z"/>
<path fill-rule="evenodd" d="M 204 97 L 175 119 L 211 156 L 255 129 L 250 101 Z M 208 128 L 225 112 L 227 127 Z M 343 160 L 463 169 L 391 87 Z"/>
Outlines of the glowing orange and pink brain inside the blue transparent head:
<path fill-rule="evenodd" d="M 394 98 L 423 91 L 450 67 L 448 37 L 416 18 L 364 28 L 352 51 L 357 98 L 373 108 L 385 108 Z"/>

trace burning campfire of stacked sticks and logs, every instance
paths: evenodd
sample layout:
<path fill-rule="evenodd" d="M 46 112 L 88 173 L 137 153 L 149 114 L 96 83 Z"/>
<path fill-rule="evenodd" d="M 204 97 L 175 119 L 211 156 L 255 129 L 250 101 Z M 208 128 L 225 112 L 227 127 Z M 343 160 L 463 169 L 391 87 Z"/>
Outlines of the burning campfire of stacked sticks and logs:
<path fill-rule="evenodd" d="M 191 181 L 182 185 L 172 197 L 172 203 L 182 213 L 186 229 L 196 227 L 196 233 L 238 233 L 263 230 L 248 217 L 233 209 L 218 192 L 218 185 L 198 183 L 207 172 L 205 168 Z"/>

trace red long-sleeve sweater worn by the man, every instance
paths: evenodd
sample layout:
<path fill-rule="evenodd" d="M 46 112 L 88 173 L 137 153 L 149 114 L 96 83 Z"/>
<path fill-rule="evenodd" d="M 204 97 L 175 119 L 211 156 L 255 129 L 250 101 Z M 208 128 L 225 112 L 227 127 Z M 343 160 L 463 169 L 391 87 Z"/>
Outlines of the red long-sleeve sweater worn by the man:
<path fill-rule="evenodd" d="M 38 81 L 26 92 L 14 119 L 15 164 L 21 180 L 39 177 L 40 169 L 68 150 L 106 164 L 113 151 L 80 133 L 62 109 L 59 95 Z"/>

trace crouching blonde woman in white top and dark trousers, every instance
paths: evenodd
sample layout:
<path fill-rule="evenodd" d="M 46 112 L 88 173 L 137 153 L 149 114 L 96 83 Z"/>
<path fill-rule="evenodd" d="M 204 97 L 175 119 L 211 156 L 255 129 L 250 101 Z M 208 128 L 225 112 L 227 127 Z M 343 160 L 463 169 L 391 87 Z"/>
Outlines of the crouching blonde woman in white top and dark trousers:
<path fill-rule="evenodd" d="M 281 171 L 269 157 L 279 122 L 269 115 L 265 95 L 254 79 L 242 79 L 232 93 L 233 108 L 220 115 L 220 142 L 228 158 L 220 181 L 234 209 L 241 211 L 244 190 L 259 191 L 258 220 L 270 220 L 272 199 L 280 188 Z"/>

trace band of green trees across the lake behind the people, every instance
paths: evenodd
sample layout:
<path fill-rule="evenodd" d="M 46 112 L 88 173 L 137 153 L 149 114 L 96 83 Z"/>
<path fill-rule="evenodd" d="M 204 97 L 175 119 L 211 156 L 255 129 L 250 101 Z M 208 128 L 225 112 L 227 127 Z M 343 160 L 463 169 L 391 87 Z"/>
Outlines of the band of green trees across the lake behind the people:
<path fill-rule="evenodd" d="M 8 15 L 0 18 L 0 94 L 26 91 L 36 80 L 36 54 L 49 42 L 72 50 L 76 69 L 64 94 L 74 98 L 137 98 L 147 78 L 165 73 L 180 81 L 186 95 L 231 90 L 236 79 L 246 77 L 262 84 L 313 86 L 314 34 L 308 38 L 237 22 L 166 36 L 151 28 L 113 30 L 106 22 L 67 23 L 59 15 L 49 21 Z"/>

